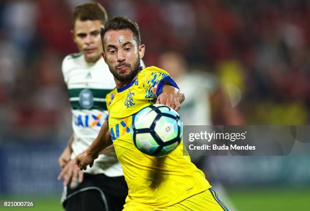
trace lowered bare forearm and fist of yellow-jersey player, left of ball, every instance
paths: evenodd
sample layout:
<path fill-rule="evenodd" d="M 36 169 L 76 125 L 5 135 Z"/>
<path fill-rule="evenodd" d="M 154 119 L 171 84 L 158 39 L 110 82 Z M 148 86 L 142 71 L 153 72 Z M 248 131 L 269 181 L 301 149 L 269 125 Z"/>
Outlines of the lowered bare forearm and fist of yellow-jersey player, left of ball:
<path fill-rule="evenodd" d="M 78 170 L 86 170 L 86 166 L 93 166 L 94 160 L 99 156 L 100 152 L 112 144 L 107 121 L 103 123 L 98 136 L 85 152 L 75 158 L 75 168 Z"/>

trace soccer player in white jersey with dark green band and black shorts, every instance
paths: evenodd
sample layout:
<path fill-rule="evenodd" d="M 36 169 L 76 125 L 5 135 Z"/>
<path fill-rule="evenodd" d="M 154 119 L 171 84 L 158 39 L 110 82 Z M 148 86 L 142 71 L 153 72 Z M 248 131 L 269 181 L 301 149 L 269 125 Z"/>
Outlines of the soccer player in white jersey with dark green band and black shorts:
<path fill-rule="evenodd" d="M 105 95 L 115 87 L 101 51 L 100 27 L 107 13 L 99 3 L 73 9 L 71 31 L 80 53 L 66 56 L 62 73 L 68 88 L 73 134 L 58 161 L 64 179 L 62 196 L 66 210 L 122 210 L 128 193 L 123 170 L 114 149 L 103 151 L 94 165 L 84 171 L 74 169 L 74 158 L 97 137 L 108 112 Z M 143 64 L 142 64 L 143 65 Z"/>

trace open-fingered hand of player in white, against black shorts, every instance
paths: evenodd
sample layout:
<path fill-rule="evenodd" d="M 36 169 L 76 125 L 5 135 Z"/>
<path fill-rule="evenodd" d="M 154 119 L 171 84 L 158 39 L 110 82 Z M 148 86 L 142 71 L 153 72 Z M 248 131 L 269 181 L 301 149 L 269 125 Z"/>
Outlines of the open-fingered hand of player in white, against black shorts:
<path fill-rule="evenodd" d="M 77 185 L 77 182 L 83 182 L 83 174 L 84 171 L 80 171 L 75 169 L 75 159 L 70 160 L 64 168 L 61 170 L 60 174 L 58 175 L 58 180 L 63 179 L 63 185 L 67 186 L 71 180 L 70 186 L 74 188 Z"/>

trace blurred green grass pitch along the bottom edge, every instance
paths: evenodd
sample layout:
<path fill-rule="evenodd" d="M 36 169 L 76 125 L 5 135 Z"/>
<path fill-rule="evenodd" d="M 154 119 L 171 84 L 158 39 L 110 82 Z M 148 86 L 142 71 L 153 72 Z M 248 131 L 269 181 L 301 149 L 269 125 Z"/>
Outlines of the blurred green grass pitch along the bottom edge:
<path fill-rule="evenodd" d="M 310 206 L 310 188 L 249 188 L 228 189 L 227 194 L 238 211 L 288 211 L 308 210 Z M 8 201 L 33 201 L 34 207 L 4 207 L 2 211 L 56 211 L 63 210 L 60 196 L 43 197 L 1 197 L 1 202 Z M 229 208 L 229 207 L 228 207 Z"/>

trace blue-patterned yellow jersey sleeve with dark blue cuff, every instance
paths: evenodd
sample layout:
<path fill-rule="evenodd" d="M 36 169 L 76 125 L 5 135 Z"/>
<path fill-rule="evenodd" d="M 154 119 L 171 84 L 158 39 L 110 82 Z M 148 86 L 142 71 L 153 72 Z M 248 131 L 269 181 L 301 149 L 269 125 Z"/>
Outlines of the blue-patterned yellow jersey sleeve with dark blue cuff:
<path fill-rule="evenodd" d="M 145 70 L 145 72 L 141 73 L 141 77 L 144 79 L 142 80 L 142 86 L 145 89 L 145 97 L 151 102 L 156 101 L 157 97 L 163 93 L 165 82 L 179 89 L 178 85 L 171 78 L 169 73 L 163 69 L 152 66 L 143 68 L 142 71 L 143 70 Z"/>

